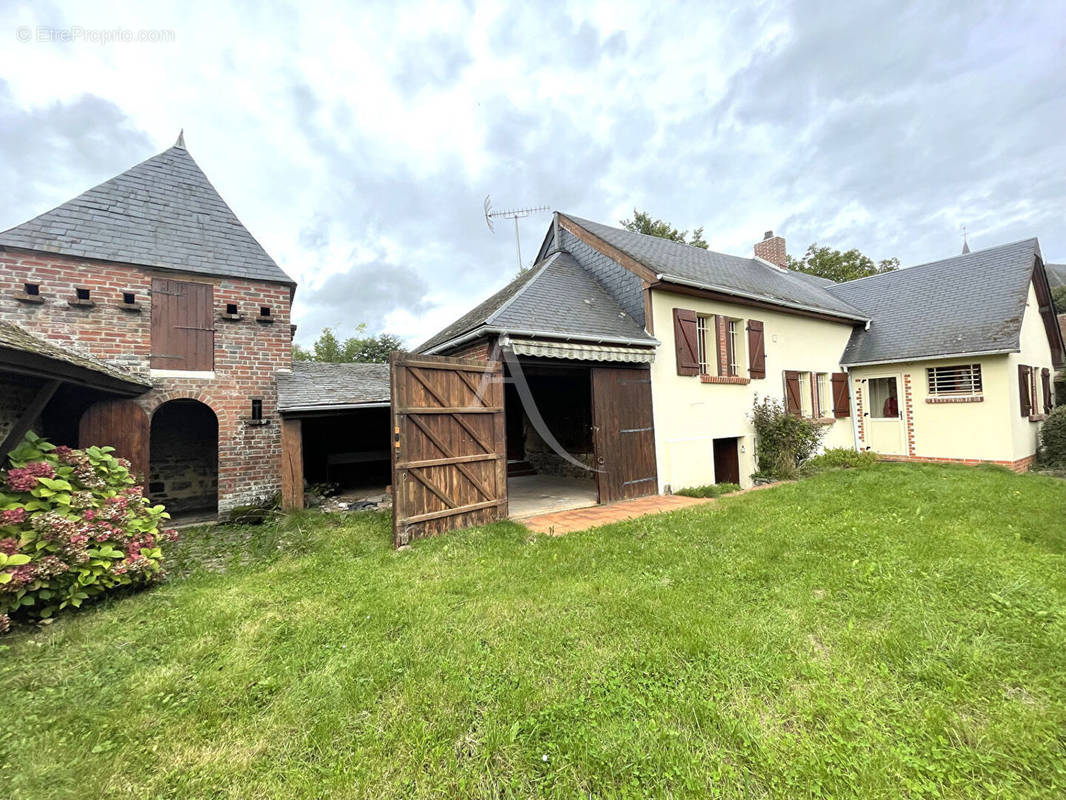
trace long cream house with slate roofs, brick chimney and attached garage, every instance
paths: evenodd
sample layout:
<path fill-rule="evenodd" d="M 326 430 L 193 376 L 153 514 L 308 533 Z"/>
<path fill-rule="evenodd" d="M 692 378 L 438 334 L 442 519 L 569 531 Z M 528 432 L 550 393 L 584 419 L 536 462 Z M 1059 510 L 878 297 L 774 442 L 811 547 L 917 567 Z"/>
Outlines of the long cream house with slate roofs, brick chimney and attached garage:
<path fill-rule="evenodd" d="M 560 212 L 530 270 L 417 350 L 504 359 L 529 386 L 505 394 L 511 474 L 595 476 L 600 502 L 749 485 L 768 396 L 826 447 L 1024 469 L 1064 358 L 1035 239 L 834 284 L 772 231 L 743 257 Z"/>

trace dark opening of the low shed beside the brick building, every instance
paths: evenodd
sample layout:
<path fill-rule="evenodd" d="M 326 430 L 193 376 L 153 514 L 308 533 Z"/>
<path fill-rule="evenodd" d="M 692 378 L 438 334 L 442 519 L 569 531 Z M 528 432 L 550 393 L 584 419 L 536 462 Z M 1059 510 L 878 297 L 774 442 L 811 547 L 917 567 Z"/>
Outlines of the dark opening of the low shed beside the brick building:
<path fill-rule="evenodd" d="M 369 407 L 305 417 L 304 480 L 345 499 L 384 494 L 391 477 L 389 410 Z"/>

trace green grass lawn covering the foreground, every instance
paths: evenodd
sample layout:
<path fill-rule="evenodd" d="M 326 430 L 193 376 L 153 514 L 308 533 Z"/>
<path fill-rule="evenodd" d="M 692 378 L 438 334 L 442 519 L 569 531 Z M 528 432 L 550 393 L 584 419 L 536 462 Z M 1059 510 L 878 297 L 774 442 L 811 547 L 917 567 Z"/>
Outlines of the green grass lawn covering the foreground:
<path fill-rule="evenodd" d="M 1066 481 L 884 464 L 559 539 L 179 547 L 0 639 L 3 796 L 1066 793 Z"/>

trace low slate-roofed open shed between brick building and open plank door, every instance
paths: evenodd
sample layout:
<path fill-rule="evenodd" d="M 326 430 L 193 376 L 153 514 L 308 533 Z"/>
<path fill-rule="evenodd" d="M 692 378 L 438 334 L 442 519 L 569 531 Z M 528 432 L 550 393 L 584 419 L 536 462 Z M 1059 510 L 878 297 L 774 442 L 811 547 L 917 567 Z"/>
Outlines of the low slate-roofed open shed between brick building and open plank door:
<path fill-rule="evenodd" d="M 302 508 L 305 486 L 377 495 L 391 483 L 389 365 L 294 362 L 277 377 L 281 493 Z"/>

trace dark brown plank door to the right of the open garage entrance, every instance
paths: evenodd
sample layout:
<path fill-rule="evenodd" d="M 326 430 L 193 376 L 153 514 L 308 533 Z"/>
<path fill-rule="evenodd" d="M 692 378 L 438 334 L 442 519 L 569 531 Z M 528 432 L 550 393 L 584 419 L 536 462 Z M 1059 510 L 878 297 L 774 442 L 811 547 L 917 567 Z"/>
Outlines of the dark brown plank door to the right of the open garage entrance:
<path fill-rule="evenodd" d="M 600 502 L 656 494 L 659 481 L 650 371 L 594 367 L 592 381 Z"/>

